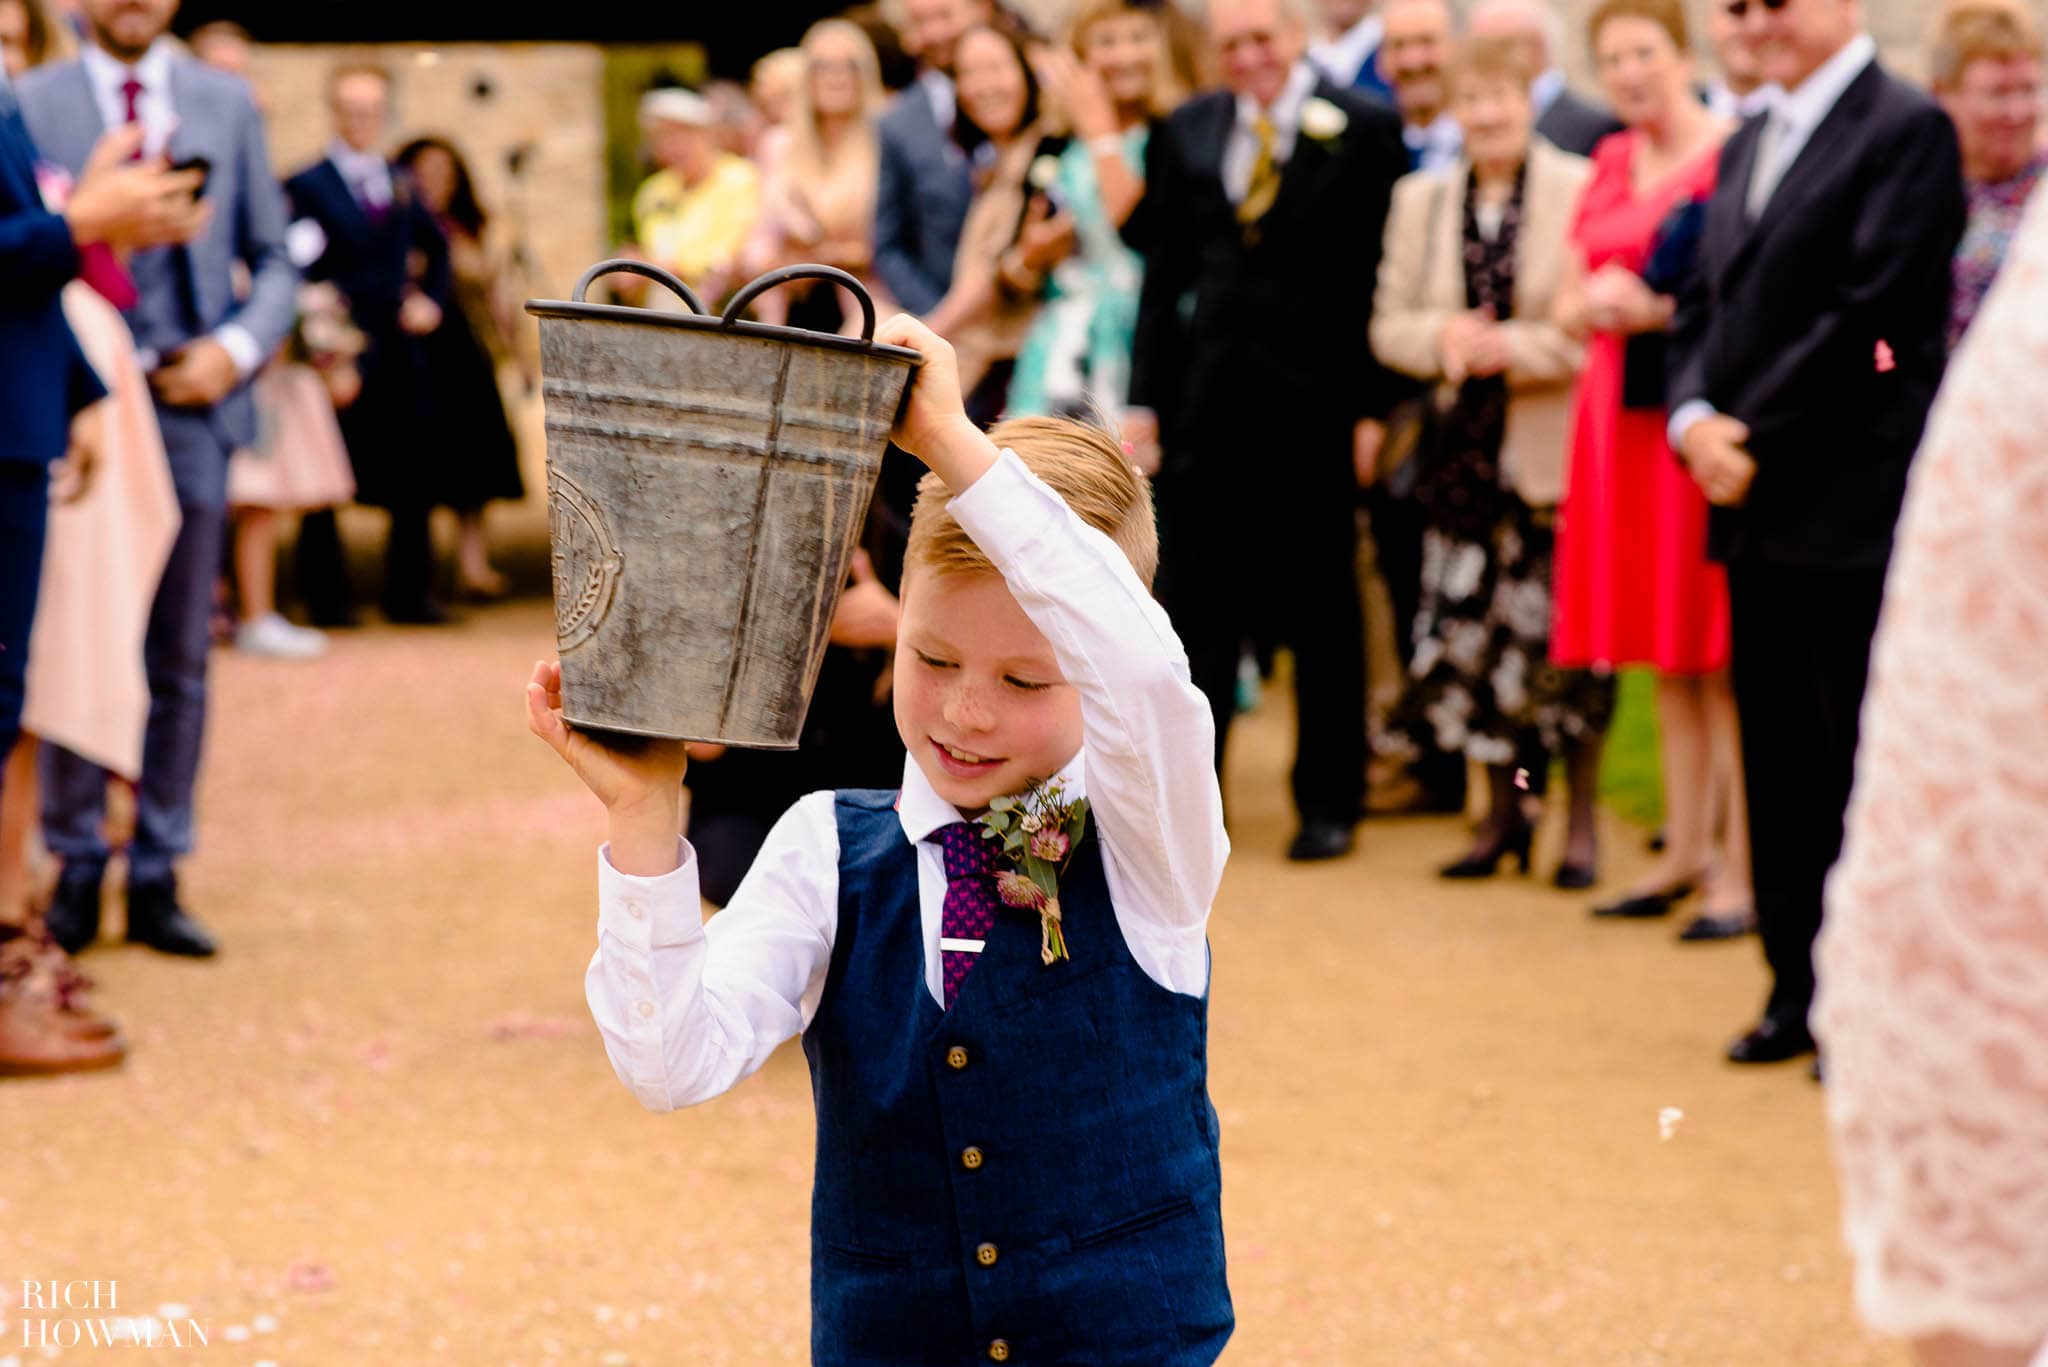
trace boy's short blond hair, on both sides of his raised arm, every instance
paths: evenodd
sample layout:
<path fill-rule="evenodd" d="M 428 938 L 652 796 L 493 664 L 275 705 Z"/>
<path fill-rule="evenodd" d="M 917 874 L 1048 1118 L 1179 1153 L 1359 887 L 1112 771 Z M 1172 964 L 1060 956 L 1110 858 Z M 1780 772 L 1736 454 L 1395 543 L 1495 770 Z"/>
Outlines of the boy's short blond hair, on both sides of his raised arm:
<path fill-rule="evenodd" d="M 1067 418 L 1010 418 L 989 428 L 989 441 L 1016 451 L 1024 467 L 1067 500 L 1083 523 L 1116 543 L 1139 580 L 1151 588 L 1159 570 L 1159 527 L 1153 523 L 1151 484 L 1124 455 L 1116 437 Z M 909 514 L 909 549 L 903 555 L 905 578 L 911 566 L 934 574 L 995 570 L 981 547 L 952 521 L 946 506 L 950 502 L 952 490 L 938 475 L 926 475 L 918 486 L 918 504 Z"/>

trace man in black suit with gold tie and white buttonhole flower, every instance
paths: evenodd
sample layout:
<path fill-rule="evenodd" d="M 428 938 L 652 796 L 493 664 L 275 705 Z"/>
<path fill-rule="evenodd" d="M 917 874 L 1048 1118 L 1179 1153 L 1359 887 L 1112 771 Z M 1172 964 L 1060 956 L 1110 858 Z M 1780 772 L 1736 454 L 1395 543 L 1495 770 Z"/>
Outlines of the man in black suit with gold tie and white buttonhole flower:
<path fill-rule="evenodd" d="M 1147 148 L 1126 434 L 1163 449 L 1161 596 L 1217 723 L 1253 635 L 1294 650 L 1292 859 L 1352 848 L 1366 771 L 1354 449 L 1393 385 L 1366 330 L 1401 121 L 1317 78 L 1286 0 L 1217 0 L 1229 90 Z M 1143 227 L 1153 225 L 1153 227 Z"/>

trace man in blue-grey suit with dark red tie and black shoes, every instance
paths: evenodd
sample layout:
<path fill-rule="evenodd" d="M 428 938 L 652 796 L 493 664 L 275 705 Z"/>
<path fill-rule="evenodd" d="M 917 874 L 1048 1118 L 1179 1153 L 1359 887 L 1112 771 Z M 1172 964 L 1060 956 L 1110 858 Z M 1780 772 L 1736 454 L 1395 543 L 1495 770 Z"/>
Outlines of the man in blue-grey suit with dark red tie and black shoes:
<path fill-rule="evenodd" d="M 207 717 L 213 580 L 227 521 L 227 453 L 256 439 L 248 379 L 291 330 L 299 275 L 285 254 L 285 193 L 270 172 L 262 117 L 246 84 L 174 51 L 164 39 L 178 0 L 84 0 L 78 59 L 29 72 L 20 111 L 43 156 L 78 174 L 92 143 L 125 123 L 143 150 L 207 162 L 213 219 L 186 246 L 137 252 L 127 312 L 156 393 L 182 525 L 150 609 L 135 840 L 129 846 L 127 937 L 205 957 L 213 939 L 178 906 L 174 861 L 193 848 L 193 785 Z M 236 299 L 233 262 L 250 271 Z M 63 859 L 51 937 L 76 953 L 98 937 L 106 869 L 106 773 L 66 750 L 45 756 L 43 834 Z"/>

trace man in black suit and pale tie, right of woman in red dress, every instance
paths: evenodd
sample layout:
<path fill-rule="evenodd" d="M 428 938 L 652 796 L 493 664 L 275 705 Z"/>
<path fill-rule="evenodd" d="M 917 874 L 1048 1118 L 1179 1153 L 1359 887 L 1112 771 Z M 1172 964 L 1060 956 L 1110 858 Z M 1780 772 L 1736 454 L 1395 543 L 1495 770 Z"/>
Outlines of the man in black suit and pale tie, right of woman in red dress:
<path fill-rule="evenodd" d="M 1729 566 L 1757 918 L 1774 986 L 1729 1058 L 1812 1049 L 1812 941 L 1964 225 L 1956 131 L 1876 61 L 1855 0 L 1751 0 L 1784 96 L 1720 158 L 1671 340 L 1671 445 Z"/>

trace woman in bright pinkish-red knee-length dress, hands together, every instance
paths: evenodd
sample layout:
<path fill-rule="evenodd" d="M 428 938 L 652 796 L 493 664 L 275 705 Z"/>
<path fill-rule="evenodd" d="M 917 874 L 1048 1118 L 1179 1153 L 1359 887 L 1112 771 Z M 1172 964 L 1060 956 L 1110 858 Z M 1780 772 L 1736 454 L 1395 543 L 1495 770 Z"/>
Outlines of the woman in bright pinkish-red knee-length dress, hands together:
<path fill-rule="evenodd" d="M 1556 305 L 1587 348 L 1550 656 L 1569 668 L 1657 666 L 1667 844 L 1597 914 L 1661 916 L 1704 881 L 1704 910 L 1683 939 L 1726 939 L 1753 924 L 1729 588 L 1706 557 L 1706 498 L 1665 441 L 1661 336 L 1673 307 L 1665 262 L 1714 191 L 1729 125 L 1694 94 L 1679 0 L 1606 0 L 1591 37 L 1608 100 L 1628 127 L 1593 150 Z"/>

